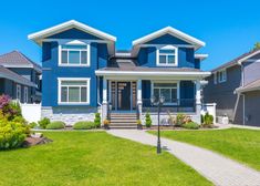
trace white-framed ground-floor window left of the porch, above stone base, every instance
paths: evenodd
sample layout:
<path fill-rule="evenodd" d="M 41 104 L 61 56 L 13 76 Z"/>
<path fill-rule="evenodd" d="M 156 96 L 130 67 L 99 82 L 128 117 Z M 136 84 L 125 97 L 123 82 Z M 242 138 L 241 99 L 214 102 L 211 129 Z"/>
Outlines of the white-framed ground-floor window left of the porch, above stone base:
<path fill-rule="evenodd" d="M 60 78 L 59 104 L 90 104 L 90 80 L 81 78 Z"/>

